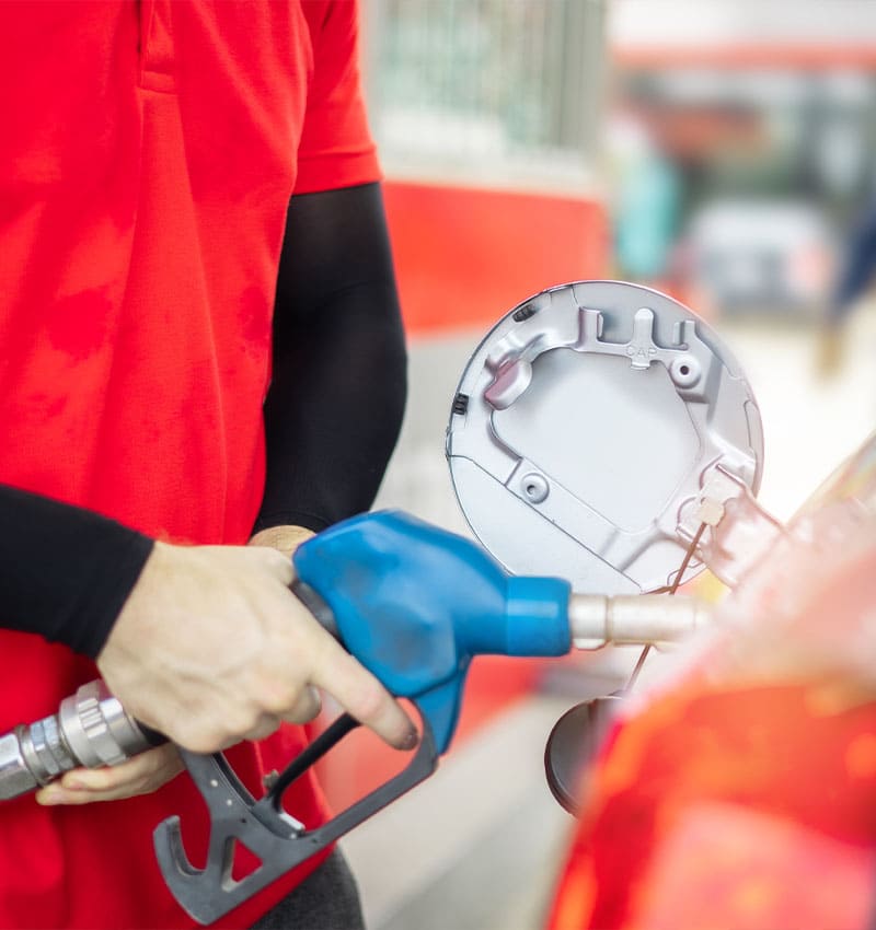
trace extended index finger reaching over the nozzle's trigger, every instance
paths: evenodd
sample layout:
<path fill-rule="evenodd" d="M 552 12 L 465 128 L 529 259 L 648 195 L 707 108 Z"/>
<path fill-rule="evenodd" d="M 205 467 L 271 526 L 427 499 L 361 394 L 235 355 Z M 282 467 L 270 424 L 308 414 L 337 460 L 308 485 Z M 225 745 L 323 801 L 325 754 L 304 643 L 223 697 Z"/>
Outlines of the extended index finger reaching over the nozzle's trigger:
<path fill-rule="evenodd" d="M 380 682 L 327 633 L 311 681 L 391 746 L 416 746 L 419 736 L 411 718 Z"/>

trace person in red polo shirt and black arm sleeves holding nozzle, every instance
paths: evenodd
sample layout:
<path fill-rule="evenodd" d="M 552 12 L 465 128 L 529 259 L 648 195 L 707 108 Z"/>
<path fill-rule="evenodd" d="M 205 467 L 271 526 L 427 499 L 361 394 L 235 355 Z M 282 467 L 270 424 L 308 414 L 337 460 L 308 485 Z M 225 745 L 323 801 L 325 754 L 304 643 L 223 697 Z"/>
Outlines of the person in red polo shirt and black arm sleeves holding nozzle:
<path fill-rule="evenodd" d="M 0 9 L 0 732 L 100 672 L 183 746 L 258 741 L 229 749 L 255 793 L 314 686 L 416 740 L 288 590 L 297 543 L 370 505 L 404 404 L 356 16 Z M 151 840 L 184 813 L 205 855 L 178 769 L 165 746 L 0 806 L 0 926 L 192 926 Z M 326 816 L 310 777 L 287 806 Z M 323 856 L 217 926 L 359 919 Z"/>

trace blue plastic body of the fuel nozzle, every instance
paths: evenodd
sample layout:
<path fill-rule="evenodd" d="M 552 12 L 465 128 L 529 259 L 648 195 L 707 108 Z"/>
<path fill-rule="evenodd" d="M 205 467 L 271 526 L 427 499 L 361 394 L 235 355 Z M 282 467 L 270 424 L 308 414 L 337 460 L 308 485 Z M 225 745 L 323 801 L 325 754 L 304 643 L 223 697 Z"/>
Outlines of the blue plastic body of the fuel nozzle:
<path fill-rule="evenodd" d="M 572 644 L 568 582 L 510 577 L 469 539 L 399 511 L 339 523 L 293 562 L 350 653 L 417 705 L 439 753 L 475 655 L 563 655 Z"/>

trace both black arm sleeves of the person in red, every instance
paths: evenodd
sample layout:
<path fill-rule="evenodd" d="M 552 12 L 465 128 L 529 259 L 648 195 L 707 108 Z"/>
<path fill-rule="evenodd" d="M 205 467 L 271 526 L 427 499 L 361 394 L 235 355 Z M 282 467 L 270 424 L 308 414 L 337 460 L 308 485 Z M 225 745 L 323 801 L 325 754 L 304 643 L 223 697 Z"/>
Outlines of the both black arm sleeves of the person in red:
<path fill-rule="evenodd" d="M 255 530 L 322 530 L 367 510 L 401 426 L 405 348 L 379 185 L 293 197 L 265 404 Z M 0 486 L 0 627 L 95 658 L 152 540 Z"/>

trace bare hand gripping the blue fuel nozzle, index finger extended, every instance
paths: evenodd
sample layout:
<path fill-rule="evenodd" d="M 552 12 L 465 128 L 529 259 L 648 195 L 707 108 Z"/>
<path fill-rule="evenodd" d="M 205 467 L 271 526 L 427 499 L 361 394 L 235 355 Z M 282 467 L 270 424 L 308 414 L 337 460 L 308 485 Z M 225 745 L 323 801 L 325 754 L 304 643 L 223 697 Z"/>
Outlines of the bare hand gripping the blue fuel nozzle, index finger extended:
<path fill-rule="evenodd" d="M 289 591 L 290 559 L 260 546 L 155 543 L 97 656 L 128 712 L 194 752 L 306 722 L 328 691 L 390 745 L 416 730 Z"/>

